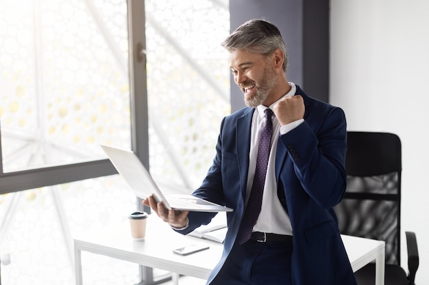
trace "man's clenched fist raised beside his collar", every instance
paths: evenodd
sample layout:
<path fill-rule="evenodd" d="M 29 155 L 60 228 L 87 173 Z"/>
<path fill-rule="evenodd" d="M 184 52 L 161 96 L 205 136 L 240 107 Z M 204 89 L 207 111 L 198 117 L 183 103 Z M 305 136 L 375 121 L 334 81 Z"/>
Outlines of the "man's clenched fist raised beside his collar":
<path fill-rule="evenodd" d="M 275 118 L 282 126 L 304 118 L 304 99 L 300 95 L 283 98 L 274 106 Z"/>

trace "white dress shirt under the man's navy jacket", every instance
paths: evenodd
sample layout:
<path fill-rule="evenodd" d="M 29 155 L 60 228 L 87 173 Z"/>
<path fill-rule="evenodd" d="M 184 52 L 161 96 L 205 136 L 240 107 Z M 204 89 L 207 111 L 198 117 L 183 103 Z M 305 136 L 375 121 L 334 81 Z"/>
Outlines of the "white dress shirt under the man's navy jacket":
<path fill-rule="evenodd" d="M 295 84 L 290 82 L 289 85 L 291 85 L 291 90 L 282 98 L 295 95 Z M 281 100 L 281 98 L 279 100 Z M 273 110 L 273 107 L 277 103 L 278 101 L 269 106 L 269 108 Z M 256 158 L 258 157 L 259 133 L 262 126 L 264 126 L 265 109 L 267 109 L 267 107 L 263 105 L 256 107 L 252 119 L 246 203 L 247 200 L 249 200 L 249 195 L 254 180 Z M 275 234 L 292 235 L 291 220 L 280 203 L 277 195 L 277 184 L 275 182 L 275 152 L 277 149 L 279 136 L 299 126 L 299 124 L 304 122 L 304 119 L 291 122 L 291 124 L 286 124 L 284 126 L 280 126 L 280 122 L 278 122 L 277 118 L 275 118 L 275 115 L 272 116 L 271 120 L 273 121 L 273 137 L 271 137 L 271 150 L 269 153 L 267 177 L 265 178 L 264 193 L 262 195 L 262 208 L 258 217 L 258 221 L 256 221 L 256 225 L 254 226 L 253 230 L 254 232 L 271 232 Z"/>

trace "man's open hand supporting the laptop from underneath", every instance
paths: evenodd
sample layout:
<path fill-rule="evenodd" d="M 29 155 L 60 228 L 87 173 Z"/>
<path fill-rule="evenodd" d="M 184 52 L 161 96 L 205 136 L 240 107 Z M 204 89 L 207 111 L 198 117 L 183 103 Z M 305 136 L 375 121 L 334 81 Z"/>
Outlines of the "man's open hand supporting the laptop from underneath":
<path fill-rule="evenodd" d="M 189 211 L 175 211 L 164 207 L 162 202 L 157 203 L 153 195 L 143 200 L 143 205 L 151 207 L 152 211 L 162 219 L 169 223 L 173 228 L 184 228 L 188 225 Z"/>

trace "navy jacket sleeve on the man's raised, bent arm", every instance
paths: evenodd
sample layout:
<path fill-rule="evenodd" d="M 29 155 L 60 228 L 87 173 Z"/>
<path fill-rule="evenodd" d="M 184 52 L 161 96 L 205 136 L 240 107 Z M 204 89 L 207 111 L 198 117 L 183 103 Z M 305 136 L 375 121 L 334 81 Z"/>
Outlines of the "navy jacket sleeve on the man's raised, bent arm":
<path fill-rule="evenodd" d="M 315 111 L 315 110 L 314 110 Z M 347 183 L 345 114 L 332 107 L 319 116 L 280 136 L 304 191 L 323 208 L 332 208 L 343 198 Z"/>

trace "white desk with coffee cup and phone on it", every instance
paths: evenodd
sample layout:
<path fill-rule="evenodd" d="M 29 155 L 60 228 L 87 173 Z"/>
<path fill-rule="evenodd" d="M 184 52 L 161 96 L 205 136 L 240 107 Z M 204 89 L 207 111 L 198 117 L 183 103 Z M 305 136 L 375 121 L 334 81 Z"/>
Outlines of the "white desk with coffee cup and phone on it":
<path fill-rule="evenodd" d="M 222 254 L 220 243 L 183 236 L 173 232 L 165 223 L 148 220 L 145 241 L 133 241 L 128 225 L 116 229 L 109 236 L 91 235 L 75 239 L 76 285 L 82 285 L 82 251 L 127 260 L 146 267 L 207 279 Z M 159 219 L 158 219 L 159 220 Z M 384 241 L 342 236 L 353 271 L 376 260 L 376 285 L 384 285 Z M 189 256 L 173 254 L 172 249 L 194 243 L 208 243 L 210 249 Z"/>

